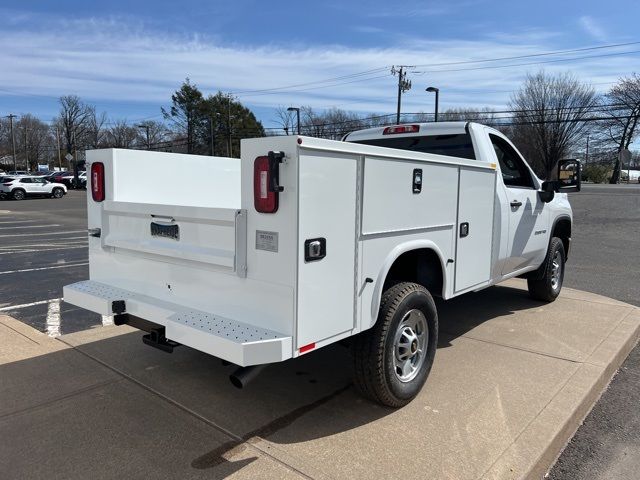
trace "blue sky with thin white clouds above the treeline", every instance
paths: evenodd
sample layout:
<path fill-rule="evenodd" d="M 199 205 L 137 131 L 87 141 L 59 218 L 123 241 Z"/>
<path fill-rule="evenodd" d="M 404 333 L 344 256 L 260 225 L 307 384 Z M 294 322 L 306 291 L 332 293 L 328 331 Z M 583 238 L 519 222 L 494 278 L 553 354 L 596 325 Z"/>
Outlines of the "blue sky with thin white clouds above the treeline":
<path fill-rule="evenodd" d="M 161 120 L 160 106 L 185 77 L 205 93 L 235 92 L 274 127 L 279 106 L 394 112 L 394 64 L 417 65 L 405 112 L 430 111 L 430 85 L 441 89 L 443 109 L 501 109 L 540 68 L 571 71 L 598 91 L 640 71 L 640 43 L 458 63 L 640 41 L 637 0 L 7 3 L 0 2 L 0 115 L 45 120 L 66 94 L 112 119 Z M 344 78 L 312 83 L 337 77 Z"/>

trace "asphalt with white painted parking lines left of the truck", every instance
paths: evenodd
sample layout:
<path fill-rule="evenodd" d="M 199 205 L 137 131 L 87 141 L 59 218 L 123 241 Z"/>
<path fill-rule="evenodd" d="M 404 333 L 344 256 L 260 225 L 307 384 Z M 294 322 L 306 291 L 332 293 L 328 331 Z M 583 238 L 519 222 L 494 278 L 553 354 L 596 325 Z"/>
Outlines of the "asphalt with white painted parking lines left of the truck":
<path fill-rule="evenodd" d="M 0 312 L 51 336 L 101 324 L 57 301 L 64 285 L 89 275 L 85 204 L 83 190 L 0 201 Z"/>

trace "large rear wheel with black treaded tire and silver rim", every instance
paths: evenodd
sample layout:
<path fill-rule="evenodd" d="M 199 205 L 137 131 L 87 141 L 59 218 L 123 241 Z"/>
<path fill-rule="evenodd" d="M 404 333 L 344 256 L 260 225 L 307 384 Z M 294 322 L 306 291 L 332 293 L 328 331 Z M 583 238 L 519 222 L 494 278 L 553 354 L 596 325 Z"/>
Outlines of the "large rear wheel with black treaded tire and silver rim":
<path fill-rule="evenodd" d="M 414 349 L 413 341 L 403 342 L 410 338 L 405 337 L 405 332 L 412 318 L 418 322 L 415 341 L 416 345 L 421 342 L 422 350 Z M 406 405 L 427 380 L 437 345 L 438 313 L 429 291 L 416 283 L 394 285 L 382 294 L 376 324 L 356 335 L 352 343 L 356 388 L 364 397 L 382 405 L 396 408 Z M 402 349 L 415 359 L 415 365 L 411 360 L 402 363 L 407 366 L 409 362 L 409 369 L 415 367 L 412 370 L 414 376 L 408 375 L 405 380 L 401 379 L 402 367 L 398 365 L 402 362 L 398 355 Z M 422 356 L 418 357 L 420 351 Z"/>

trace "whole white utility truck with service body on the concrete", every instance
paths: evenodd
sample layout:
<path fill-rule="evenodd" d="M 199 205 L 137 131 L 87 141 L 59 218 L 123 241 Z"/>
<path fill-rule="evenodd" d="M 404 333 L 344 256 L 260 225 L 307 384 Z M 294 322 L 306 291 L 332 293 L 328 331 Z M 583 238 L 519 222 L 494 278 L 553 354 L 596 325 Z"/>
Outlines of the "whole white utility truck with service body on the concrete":
<path fill-rule="evenodd" d="M 436 351 L 433 296 L 514 276 L 553 301 L 571 240 L 579 162 L 542 182 L 500 132 L 476 123 L 395 125 L 344 141 L 242 140 L 241 159 L 87 152 L 90 280 L 65 301 L 143 341 L 260 366 L 347 337 L 355 383 L 402 406 Z M 168 185 L 176 165 L 193 172 Z"/>

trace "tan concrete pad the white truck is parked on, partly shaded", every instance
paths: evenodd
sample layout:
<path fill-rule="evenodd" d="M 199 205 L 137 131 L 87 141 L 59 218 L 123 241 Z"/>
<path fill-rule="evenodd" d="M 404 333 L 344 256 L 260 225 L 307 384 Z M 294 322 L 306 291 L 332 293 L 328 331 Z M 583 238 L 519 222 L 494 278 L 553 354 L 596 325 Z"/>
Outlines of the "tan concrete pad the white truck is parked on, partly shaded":
<path fill-rule="evenodd" d="M 232 367 L 128 327 L 51 339 L 0 317 L 3 478 L 539 478 L 640 334 L 640 309 L 514 280 L 438 304 L 425 388 L 390 410 L 358 397 L 334 345 Z"/>

